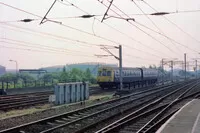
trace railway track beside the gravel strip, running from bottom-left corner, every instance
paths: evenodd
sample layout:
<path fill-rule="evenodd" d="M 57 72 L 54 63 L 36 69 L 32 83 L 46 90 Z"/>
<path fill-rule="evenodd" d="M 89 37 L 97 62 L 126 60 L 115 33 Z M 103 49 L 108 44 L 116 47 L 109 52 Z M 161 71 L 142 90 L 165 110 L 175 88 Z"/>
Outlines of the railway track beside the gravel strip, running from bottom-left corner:
<path fill-rule="evenodd" d="M 107 102 L 95 104 L 86 108 L 48 117 L 31 123 L 19 125 L 10 129 L 0 131 L 0 133 L 47 133 L 47 132 L 74 132 L 83 127 L 89 126 L 89 121 L 99 121 L 113 114 L 123 113 L 124 111 L 137 106 L 145 105 L 154 101 L 158 97 L 170 93 L 180 84 L 156 87 L 151 90 L 138 92 L 113 99 Z M 101 116 L 101 119 L 100 117 Z M 89 124 L 89 125 L 88 125 Z M 82 127 L 83 126 L 83 127 Z"/>

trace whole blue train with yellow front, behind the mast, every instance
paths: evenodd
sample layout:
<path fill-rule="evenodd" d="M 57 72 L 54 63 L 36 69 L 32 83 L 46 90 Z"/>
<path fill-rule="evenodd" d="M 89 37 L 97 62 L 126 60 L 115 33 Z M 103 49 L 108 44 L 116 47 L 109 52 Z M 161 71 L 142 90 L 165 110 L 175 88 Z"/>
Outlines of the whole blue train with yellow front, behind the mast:
<path fill-rule="evenodd" d="M 153 68 L 122 68 L 123 86 L 148 86 L 158 81 L 158 70 Z M 97 83 L 102 89 L 119 88 L 119 67 L 100 67 L 98 69 Z"/>

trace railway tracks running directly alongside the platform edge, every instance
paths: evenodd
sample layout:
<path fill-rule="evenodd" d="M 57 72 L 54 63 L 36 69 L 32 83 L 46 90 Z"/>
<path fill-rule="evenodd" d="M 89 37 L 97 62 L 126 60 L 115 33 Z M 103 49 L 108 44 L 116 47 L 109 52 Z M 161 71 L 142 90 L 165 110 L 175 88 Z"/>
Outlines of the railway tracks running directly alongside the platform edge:
<path fill-rule="evenodd" d="M 188 101 L 195 97 L 199 97 L 199 87 L 199 83 L 194 83 L 194 85 L 191 85 L 190 87 L 185 89 L 182 88 L 179 93 L 174 95 L 172 100 L 160 102 L 158 99 L 136 111 L 128 113 L 121 119 L 96 131 L 96 133 L 154 133 L 168 118 Z"/>

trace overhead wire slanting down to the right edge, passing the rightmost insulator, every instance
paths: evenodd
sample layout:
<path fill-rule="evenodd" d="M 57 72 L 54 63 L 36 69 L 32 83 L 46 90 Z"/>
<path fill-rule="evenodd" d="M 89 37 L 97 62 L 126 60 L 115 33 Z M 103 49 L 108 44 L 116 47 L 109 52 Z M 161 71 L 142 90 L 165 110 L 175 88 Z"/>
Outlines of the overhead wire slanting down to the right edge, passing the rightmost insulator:
<path fill-rule="evenodd" d="M 152 10 L 154 10 L 155 12 L 158 12 L 154 7 L 152 7 L 149 3 L 147 3 L 144 0 L 141 0 L 142 2 L 144 2 L 147 6 L 149 6 Z M 197 10 L 200 11 L 200 10 Z M 182 11 L 182 12 L 190 12 L 190 11 Z M 199 40 L 197 40 L 195 37 L 193 37 L 191 34 L 187 33 L 186 31 L 184 31 L 180 26 L 178 26 L 176 23 L 174 23 L 173 21 L 171 21 L 170 19 L 168 19 L 167 17 L 163 16 L 169 23 L 171 23 L 172 25 L 174 25 L 175 27 L 177 27 L 180 31 L 182 31 L 184 34 L 186 34 L 187 36 L 189 36 L 190 38 L 192 38 L 193 40 L 195 40 L 196 42 L 200 43 Z"/>

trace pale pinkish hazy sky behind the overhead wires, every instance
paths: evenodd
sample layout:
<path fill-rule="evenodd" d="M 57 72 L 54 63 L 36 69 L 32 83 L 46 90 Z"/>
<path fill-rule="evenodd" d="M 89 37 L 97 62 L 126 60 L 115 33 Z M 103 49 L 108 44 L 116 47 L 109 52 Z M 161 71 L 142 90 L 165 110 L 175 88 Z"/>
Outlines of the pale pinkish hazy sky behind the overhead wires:
<path fill-rule="evenodd" d="M 183 60 L 184 53 L 187 53 L 188 59 L 200 57 L 198 55 L 198 51 L 200 52 L 200 11 L 147 18 L 147 15 L 134 15 L 142 14 L 135 3 L 147 14 L 155 12 L 144 2 L 114 0 L 108 15 L 119 17 L 117 15 L 119 14 L 127 18 L 123 14 L 125 12 L 134 18 L 135 22 L 129 21 L 129 23 L 123 19 L 109 18 L 101 23 L 99 20 L 102 19 L 107 8 L 98 0 L 63 0 L 63 2 L 57 1 L 47 16 L 53 21 L 62 22 L 63 25 L 54 22 L 39 25 L 41 21 L 39 16 L 45 15 L 53 1 L 0 0 L 0 65 L 14 69 L 15 64 L 9 62 L 10 59 L 17 60 L 19 68 L 40 68 L 78 62 L 118 63 L 113 57 L 94 56 L 107 54 L 96 46 L 97 44 L 110 46 L 121 44 L 123 66 L 129 67 L 158 65 L 162 58 Z M 109 5 L 107 0 L 101 1 Z M 200 10 L 199 0 L 145 1 L 159 12 Z M 73 3 L 78 8 L 70 6 L 67 2 Z M 36 14 L 38 17 L 5 6 L 5 4 Z M 89 14 L 99 16 L 95 19 L 74 18 L 86 15 L 79 8 Z M 18 21 L 27 18 L 36 20 L 29 23 Z M 89 44 L 80 43 L 80 41 Z M 116 49 L 110 50 L 118 54 Z"/>

